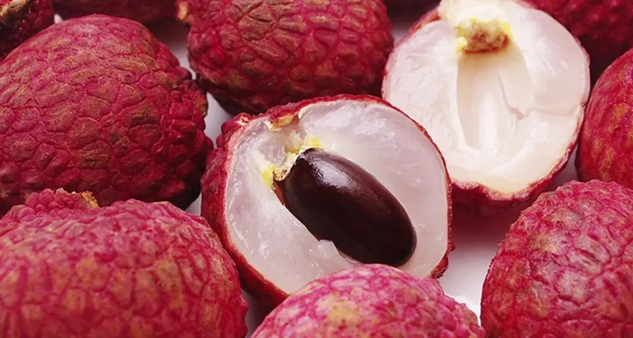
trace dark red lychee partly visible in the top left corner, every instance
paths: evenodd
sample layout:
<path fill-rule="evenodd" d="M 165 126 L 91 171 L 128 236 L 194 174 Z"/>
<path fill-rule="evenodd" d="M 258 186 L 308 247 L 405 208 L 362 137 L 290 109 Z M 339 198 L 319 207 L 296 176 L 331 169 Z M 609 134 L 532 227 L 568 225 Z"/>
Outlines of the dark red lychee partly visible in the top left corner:
<path fill-rule="evenodd" d="M 0 0 L 0 61 L 53 22 L 53 0 Z"/>

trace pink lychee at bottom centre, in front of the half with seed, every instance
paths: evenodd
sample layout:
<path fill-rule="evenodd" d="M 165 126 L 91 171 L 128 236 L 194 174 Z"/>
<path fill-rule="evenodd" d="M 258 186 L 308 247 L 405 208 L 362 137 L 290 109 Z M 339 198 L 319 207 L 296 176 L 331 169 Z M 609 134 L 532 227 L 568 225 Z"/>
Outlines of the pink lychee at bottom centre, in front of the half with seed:
<path fill-rule="evenodd" d="M 484 338 L 472 311 L 436 280 L 359 265 L 314 280 L 275 308 L 253 338 Z"/>

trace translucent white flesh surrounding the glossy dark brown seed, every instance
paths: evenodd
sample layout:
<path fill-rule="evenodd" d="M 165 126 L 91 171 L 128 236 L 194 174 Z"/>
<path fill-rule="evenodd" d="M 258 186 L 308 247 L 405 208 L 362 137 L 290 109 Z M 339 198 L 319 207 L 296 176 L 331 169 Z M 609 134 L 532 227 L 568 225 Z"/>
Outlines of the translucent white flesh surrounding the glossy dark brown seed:
<path fill-rule="evenodd" d="M 298 123 L 270 131 L 251 123 L 233 147 L 226 215 L 232 241 L 266 279 L 286 292 L 357 262 L 332 242 L 317 241 L 277 199 L 261 172 L 280 165 L 293 130 L 316 137 L 322 149 L 372 173 L 410 216 L 418 244 L 399 268 L 424 277 L 442 260 L 448 244 L 446 172 L 436 149 L 402 114 L 380 104 L 337 101 L 307 106 Z"/>

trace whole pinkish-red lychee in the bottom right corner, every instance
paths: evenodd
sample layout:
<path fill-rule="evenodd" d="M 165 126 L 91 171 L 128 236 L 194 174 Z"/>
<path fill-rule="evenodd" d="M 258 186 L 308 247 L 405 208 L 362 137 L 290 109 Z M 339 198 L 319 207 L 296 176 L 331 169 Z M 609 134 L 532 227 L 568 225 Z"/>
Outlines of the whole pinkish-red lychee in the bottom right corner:
<path fill-rule="evenodd" d="M 482 293 L 489 338 L 633 336 L 633 191 L 570 182 L 523 211 Z"/>

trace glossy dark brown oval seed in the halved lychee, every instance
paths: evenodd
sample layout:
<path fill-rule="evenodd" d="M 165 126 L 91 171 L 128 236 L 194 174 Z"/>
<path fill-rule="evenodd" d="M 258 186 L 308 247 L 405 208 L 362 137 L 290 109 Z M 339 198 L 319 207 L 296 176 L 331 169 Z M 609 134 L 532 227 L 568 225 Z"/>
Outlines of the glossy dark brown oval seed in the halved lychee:
<path fill-rule="evenodd" d="M 415 230 L 402 204 L 346 158 L 307 149 L 279 188 L 285 207 L 316 239 L 361 263 L 399 266 L 413 254 Z"/>

